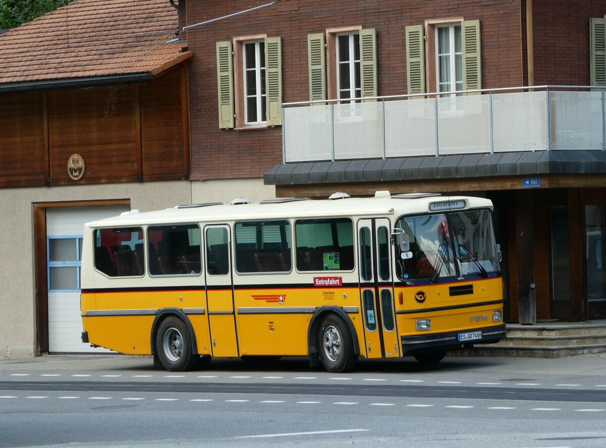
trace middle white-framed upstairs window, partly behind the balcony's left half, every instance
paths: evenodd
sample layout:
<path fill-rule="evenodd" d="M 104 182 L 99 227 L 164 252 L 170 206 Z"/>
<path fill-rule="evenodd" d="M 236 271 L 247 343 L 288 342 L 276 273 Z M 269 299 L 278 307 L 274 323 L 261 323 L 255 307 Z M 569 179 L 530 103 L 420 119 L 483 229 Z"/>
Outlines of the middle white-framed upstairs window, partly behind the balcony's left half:
<path fill-rule="evenodd" d="M 362 85 L 360 75 L 360 35 L 347 33 L 336 36 L 337 99 L 360 102 Z"/>

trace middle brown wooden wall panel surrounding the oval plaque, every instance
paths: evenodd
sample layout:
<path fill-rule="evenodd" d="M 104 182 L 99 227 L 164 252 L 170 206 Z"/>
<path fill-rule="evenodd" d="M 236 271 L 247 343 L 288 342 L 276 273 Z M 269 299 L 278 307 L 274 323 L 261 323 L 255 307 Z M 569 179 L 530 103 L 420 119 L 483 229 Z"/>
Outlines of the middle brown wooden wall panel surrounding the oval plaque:
<path fill-rule="evenodd" d="M 79 184 L 136 181 L 135 87 L 118 85 L 48 93 L 50 184 L 73 184 L 67 162 L 84 158 Z"/>

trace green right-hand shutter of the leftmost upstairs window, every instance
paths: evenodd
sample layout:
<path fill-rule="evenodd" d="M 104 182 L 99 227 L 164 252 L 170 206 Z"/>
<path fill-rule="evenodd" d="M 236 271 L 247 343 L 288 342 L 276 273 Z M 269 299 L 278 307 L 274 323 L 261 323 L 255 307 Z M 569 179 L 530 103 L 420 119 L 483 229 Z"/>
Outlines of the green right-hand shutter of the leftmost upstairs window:
<path fill-rule="evenodd" d="M 267 125 L 282 124 L 282 39 L 265 38 Z"/>

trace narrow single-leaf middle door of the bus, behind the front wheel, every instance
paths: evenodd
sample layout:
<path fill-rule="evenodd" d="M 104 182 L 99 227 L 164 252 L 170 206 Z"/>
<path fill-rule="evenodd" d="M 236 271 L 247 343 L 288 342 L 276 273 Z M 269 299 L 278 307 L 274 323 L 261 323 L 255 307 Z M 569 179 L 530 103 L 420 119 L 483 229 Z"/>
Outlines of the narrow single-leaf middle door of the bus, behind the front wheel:
<path fill-rule="evenodd" d="M 229 226 L 206 226 L 206 306 L 213 356 L 239 356 Z"/>

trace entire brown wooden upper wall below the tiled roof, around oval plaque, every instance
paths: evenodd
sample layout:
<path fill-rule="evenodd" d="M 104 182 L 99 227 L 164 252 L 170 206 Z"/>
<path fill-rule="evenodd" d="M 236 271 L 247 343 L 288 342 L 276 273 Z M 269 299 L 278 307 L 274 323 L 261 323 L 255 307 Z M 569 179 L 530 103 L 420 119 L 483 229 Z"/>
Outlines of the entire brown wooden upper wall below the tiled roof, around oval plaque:
<path fill-rule="evenodd" d="M 0 188 L 188 178 L 187 83 L 181 65 L 145 84 L 0 94 Z"/>

